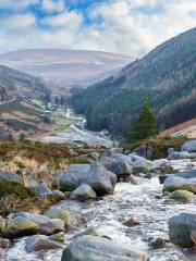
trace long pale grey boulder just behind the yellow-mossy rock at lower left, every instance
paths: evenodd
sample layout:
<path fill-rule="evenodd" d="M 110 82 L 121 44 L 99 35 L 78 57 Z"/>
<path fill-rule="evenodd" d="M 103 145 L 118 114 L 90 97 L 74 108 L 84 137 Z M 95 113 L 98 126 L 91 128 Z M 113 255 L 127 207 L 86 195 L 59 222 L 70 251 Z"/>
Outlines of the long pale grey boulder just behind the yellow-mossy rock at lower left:
<path fill-rule="evenodd" d="M 58 232 L 64 232 L 64 222 L 60 219 L 50 219 L 45 215 L 33 214 L 29 212 L 16 212 L 12 219 L 24 217 L 39 227 L 38 232 L 42 235 L 52 235 Z"/>

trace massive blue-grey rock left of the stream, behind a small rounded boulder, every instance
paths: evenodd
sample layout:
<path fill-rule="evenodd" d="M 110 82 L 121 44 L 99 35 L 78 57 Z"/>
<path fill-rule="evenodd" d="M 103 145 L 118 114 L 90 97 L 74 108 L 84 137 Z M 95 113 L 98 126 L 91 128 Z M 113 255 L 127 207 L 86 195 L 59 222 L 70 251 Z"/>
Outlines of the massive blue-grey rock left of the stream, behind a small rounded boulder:
<path fill-rule="evenodd" d="M 107 171 L 100 163 L 72 165 L 58 176 L 58 186 L 63 191 L 73 191 L 81 184 L 89 185 L 97 196 L 113 194 L 117 183 L 115 174 Z"/>

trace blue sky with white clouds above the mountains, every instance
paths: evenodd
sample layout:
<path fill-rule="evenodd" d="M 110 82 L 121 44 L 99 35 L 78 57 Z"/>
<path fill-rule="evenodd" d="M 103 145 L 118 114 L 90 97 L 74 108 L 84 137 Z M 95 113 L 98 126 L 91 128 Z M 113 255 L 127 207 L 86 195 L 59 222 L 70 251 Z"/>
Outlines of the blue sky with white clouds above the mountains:
<path fill-rule="evenodd" d="M 0 52 L 98 50 L 140 58 L 196 26 L 196 0 L 0 0 Z"/>

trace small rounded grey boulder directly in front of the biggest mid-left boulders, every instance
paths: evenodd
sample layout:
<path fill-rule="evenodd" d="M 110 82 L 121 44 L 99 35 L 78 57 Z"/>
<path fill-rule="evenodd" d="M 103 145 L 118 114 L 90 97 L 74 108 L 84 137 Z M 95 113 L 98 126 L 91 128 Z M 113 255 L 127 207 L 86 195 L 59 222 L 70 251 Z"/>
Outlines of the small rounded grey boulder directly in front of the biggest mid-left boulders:
<path fill-rule="evenodd" d="M 87 184 L 82 184 L 71 194 L 72 199 L 78 199 L 78 200 L 96 199 L 96 197 L 97 197 L 96 192 Z"/>

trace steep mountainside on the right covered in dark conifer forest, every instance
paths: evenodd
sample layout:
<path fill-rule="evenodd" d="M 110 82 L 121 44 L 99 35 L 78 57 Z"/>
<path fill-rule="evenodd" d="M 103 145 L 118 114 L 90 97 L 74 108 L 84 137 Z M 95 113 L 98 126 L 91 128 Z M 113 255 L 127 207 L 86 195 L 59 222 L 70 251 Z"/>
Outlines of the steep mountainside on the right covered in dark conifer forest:
<path fill-rule="evenodd" d="M 90 129 L 128 136 L 144 96 L 148 95 L 159 127 L 166 129 L 196 116 L 196 28 L 158 46 L 120 73 L 82 90 L 71 102 Z"/>

